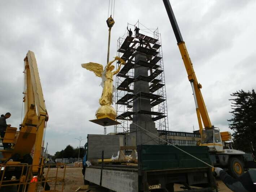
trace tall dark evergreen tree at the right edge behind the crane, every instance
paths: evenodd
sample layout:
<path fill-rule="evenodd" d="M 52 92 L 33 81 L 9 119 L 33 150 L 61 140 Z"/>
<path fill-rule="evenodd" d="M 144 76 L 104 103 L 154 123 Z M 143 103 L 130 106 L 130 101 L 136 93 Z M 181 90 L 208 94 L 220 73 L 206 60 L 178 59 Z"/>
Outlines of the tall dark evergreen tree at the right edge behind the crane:
<path fill-rule="evenodd" d="M 250 152 L 250 142 L 256 144 L 256 93 L 239 90 L 231 94 L 230 99 L 232 118 L 229 128 L 234 130 L 232 134 L 234 147 L 245 152 Z"/>

